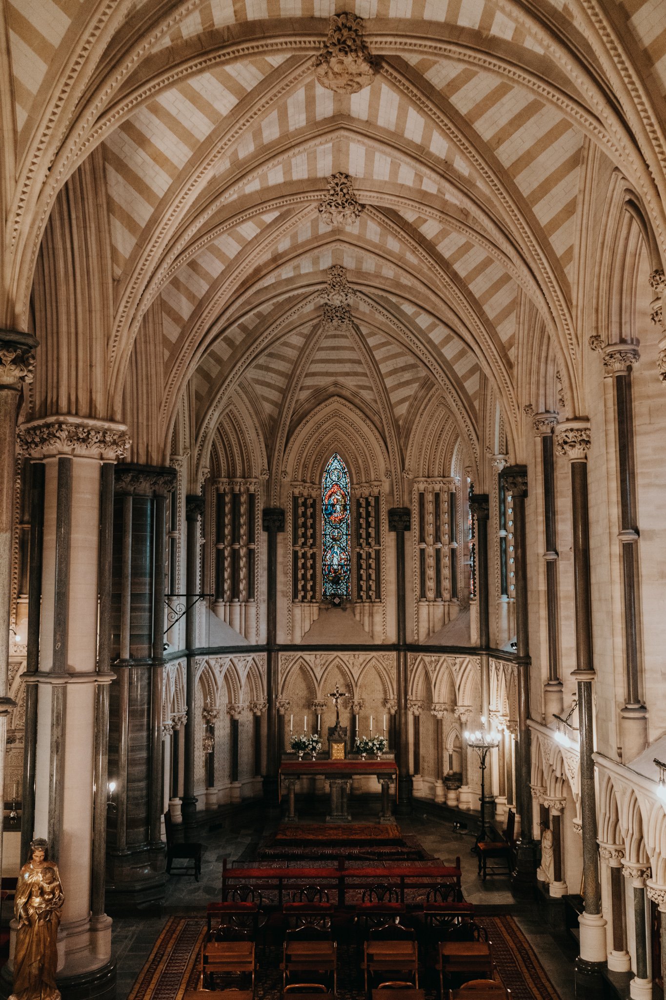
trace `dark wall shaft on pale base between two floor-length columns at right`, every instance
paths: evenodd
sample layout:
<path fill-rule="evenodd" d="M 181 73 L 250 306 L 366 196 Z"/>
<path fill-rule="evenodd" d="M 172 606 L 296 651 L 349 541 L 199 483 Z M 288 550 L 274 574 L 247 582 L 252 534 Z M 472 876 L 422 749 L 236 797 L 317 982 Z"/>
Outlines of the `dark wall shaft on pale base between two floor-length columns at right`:
<path fill-rule="evenodd" d="M 555 463 L 553 429 L 556 413 L 537 413 L 533 418 L 534 433 L 541 440 L 541 470 L 543 475 L 543 525 L 546 564 L 546 622 L 548 637 L 548 680 L 543 687 L 543 711 L 548 724 L 553 715 L 562 714 L 562 681 L 559 676 L 557 641 L 557 523 L 555 519 Z"/>

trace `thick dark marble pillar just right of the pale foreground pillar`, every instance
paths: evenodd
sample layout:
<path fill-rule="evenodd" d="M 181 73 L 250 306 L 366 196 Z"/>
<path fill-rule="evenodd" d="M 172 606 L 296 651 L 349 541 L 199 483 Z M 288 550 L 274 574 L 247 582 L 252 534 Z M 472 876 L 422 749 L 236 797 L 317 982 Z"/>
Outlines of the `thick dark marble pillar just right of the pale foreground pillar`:
<path fill-rule="evenodd" d="M 107 825 L 107 908 L 164 899 L 162 813 L 165 497 L 171 468 L 116 467 L 111 593 L 109 778 L 116 812 Z"/>

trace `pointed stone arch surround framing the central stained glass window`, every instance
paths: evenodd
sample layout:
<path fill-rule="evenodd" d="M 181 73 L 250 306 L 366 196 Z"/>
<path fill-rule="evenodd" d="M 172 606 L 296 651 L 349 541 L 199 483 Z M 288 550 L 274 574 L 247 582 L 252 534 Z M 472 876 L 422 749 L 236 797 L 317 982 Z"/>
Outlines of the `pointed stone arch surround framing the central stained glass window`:
<path fill-rule="evenodd" d="M 333 454 L 338 454 L 349 476 L 351 497 L 351 577 L 349 606 L 328 608 L 321 615 L 322 481 Z M 344 642 L 364 645 L 384 642 L 389 635 L 388 609 L 394 606 L 394 584 L 387 579 L 386 508 L 401 496 L 398 457 L 390 454 L 378 428 L 341 396 L 317 406 L 292 433 L 282 470 L 272 471 L 286 508 L 286 531 L 279 559 L 287 621 L 286 641 Z M 271 492 L 273 493 L 274 485 Z M 373 532 L 360 540 L 359 519 L 371 510 Z M 365 522 L 368 523 L 368 520 Z M 360 541 L 360 544 L 359 544 Z M 370 551 L 371 550 L 371 551 Z M 373 560 L 378 589 L 370 589 L 364 572 Z"/>

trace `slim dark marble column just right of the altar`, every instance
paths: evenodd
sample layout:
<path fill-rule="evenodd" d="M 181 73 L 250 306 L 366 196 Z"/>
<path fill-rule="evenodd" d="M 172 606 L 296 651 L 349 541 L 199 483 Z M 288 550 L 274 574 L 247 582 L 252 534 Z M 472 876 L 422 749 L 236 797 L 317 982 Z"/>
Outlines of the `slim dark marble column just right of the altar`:
<path fill-rule="evenodd" d="M 409 771 L 409 733 L 407 716 L 407 650 L 406 650 L 406 593 L 404 565 L 404 533 L 411 527 L 408 507 L 391 507 L 388 511 L 388 530 L 395 532 L 395 590 L 397 618 L 396 694 L 397 694 L 397 746 L 395 759 L 399 777 L 397 815 L 411 812 L 411 774 Z"/>

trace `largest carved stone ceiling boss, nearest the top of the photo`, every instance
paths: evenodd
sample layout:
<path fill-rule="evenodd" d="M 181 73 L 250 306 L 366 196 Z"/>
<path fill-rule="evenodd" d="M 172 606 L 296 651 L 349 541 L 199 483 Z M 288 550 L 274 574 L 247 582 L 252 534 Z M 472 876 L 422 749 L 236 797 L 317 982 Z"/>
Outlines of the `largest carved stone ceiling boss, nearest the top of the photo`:
<path fill-rule="evenodd" d="M 374 79 L 374 62 L 363 39 L 362 18 L 337 14 L 322 51 L 315 60 L 315 77 L 338 94 L 355 94 Z"/>

